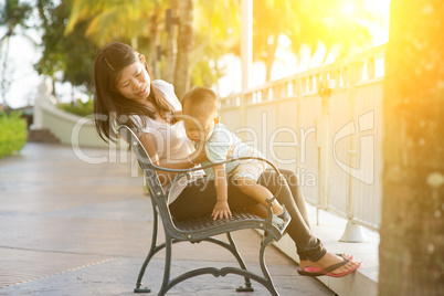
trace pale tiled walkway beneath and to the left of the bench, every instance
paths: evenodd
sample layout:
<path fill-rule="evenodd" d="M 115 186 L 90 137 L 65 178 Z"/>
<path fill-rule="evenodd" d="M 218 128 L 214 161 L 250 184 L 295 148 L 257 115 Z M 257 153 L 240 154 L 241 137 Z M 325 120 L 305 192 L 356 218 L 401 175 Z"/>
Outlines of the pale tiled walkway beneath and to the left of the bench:
<path fill-rule="evenodd" d="M 96 160 L 104 149 L 84 149 Z M 0 159 L 0 295 L 134 295 L 150 243 L 150 201 L 129 163 L 87 163 L 71 147 L 27 144 Z M 260 236 L 234 233 L 246 263 L 258 271 Z M 234 262 L 213 245 L 177 244 L 172 273 Z M 148 266 L 144 283 L 160 286 L 163 253 Z M 266 261 L 281 295 L 332 295 L 275 247 Z M 168 295 L 239 295 L 242 277 L 194 277 Z M 268 295 L 253 283 L 254 293 Z M 156 295 L 151 293 L 149 295 Z"/>

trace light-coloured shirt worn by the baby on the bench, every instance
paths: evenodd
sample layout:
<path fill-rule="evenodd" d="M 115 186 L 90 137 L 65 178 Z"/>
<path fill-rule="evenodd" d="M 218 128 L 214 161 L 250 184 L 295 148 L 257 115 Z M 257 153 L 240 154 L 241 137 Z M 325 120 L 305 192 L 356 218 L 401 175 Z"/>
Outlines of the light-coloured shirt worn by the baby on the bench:
<path fill-rule="evenodd" d="M 210 161 L 203 161 L 201 166 L 211 165 L 220 161 L 224 161 L 232 158 L 244 157 L 251 149 L 240 138 L 232 134 L 223 124 L 219 123 L 213 130 L 210 139 L 205 142 L 194 142 L 195 149 L 199 149 L 200 145 L 204 145 L 207 157 Z M 233 146 L 233 151 L 226 158 L 230 148 Z M 240 161 L 233 161 L 225 163 L 225 173 L 232 171 Z M 214 179 L 213 168 L 204 169 L 205 175 L 210 179 Z"/>

